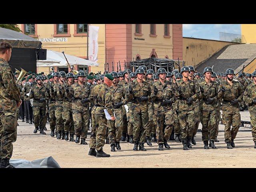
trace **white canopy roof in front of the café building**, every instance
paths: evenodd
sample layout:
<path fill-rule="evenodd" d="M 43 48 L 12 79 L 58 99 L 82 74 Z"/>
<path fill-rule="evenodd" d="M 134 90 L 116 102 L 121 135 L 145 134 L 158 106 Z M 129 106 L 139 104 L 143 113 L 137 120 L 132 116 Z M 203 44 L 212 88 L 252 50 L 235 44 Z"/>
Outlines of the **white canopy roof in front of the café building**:
<path fill-rule="evenodd" d="M 79 66 L 99 66 L 98 63 L 82 59 L 80 57 L 72 56 L 65 54 L 68 63 L 70 66 L 79 65 Z M 60 67 L 60 66 L 68 66 L 68 63 L 64 57 L 64 54 L 57 51 L 47 50 L 46 60 L 38 60 L 38 67 Z"/>

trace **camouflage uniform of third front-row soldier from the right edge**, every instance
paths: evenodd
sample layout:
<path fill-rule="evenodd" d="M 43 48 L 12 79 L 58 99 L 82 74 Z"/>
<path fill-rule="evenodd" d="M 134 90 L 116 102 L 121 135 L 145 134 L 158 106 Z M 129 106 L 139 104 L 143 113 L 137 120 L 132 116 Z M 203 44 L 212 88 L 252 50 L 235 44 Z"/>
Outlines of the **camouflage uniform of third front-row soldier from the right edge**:
<path fill-rule="evenodd" d="M 209 85 L 210 84 L 210 85 Z M 202 123 L 202 140 L 208 141 L 210 132 L 210 141 L 216 138 L 216 103 L 218 100 L 218 85 L 216 82 L 211 81 L 200 82 L 200 86 L 204 89 L 204 93 L 200 92 L 200 122 Z M 211 104 L 206 104 L 208 98 L 213 98 Z"/>

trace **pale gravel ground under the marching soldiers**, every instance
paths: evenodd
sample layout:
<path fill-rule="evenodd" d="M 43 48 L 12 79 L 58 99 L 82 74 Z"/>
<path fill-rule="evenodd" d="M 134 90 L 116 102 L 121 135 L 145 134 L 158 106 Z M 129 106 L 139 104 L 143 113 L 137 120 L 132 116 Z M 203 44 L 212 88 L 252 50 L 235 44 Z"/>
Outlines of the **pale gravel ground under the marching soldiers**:
<path fill-rule="evenodd" d="M 242 120 L 249 120 L 249 112 L 241 112 Z M 182 150 L 182 143 L 168 141 L 170 150 L 158 151 L 158 145 L 145 147 L 147 151 L 132 150 L 133 144 L 120 142 L 122 150 L 110 152 L 110 145 L 104 151 L 110 158 L 88 156 L 89 145 L 57 140 L 50 136 L 49 123 L 46 135 L 34 134 L 34 124 L 29 125 L 18 120 L 17 141 L 14 143 L 13 159 L 36 160 L 52 156 L 62 168 L 255 168 L 256 149 L 252 141 L 250 127 L 241 127 L 235 139 L 236 147 L 227 149 L 224 143 L 224 125 L 219 126 L 219 143 L 216 150 L 204 150 L 202 134 L 198 132 L 197 144 L 192 149 Z M 200 124 L 199 129 L 202 128 Z M 90 135 L 87 142 L 89 144 Z"/>

